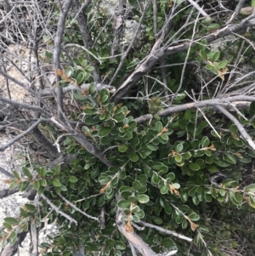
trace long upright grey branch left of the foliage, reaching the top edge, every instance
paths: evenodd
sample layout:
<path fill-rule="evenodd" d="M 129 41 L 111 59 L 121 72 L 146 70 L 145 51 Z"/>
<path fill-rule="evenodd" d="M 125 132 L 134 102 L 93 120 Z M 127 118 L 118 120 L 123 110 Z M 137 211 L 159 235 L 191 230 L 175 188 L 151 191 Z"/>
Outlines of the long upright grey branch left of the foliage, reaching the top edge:
<path fill-rule="evenodd" d="M 56 72 L 60 68 L 60 54 L 61 54 L 61 43 L 63 40 L 63 35 L 65 31 L 65 20 L 68 14 L 69 9 L 71 8 L 72 0 L 65 0 L 63 11 L 61 10 L 58 22 L 58 29 L 56 32 L 55 43 L 54 43 L 54 71 Z M 58 117 L 59 120 L 65 122 L 65 114 L 64 114 L 64 107 L 63 107 L 63 89 L 59 87 L 60 77 L 56 74 L 56 83 L 57 87 L 57 94 L 56 94 L 56 102 L 58 104 Z M 63 116 L 64 114 L 64 116 Z"/>

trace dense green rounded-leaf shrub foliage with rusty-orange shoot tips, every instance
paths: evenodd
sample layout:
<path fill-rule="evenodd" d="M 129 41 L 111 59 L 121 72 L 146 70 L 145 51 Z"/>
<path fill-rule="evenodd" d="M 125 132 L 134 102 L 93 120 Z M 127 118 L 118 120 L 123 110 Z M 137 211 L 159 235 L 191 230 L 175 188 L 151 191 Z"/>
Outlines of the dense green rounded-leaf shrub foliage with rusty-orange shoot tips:
<path fill-rule="evenodd" d="M 128 14 L 138 22 L 143 15 L 139 2 L 145 1 L 129 1 Z M 25 162 L 21 175 L 14 171 L 14 179 L 7 181 L 10 189 L 26 191 L 32 186 L 41 199 L 21 207 L 19 218 L 4 220 L 3 247 L 8 242 L 14 245 L 17 234 L 29 230 L 31 222 L 40 227 L 47 221 L 58 225 L 59 235 L 50 237 L 51 244 L 41 244 L 45 255 L 69 256 L 81 246 L 86 255 L 131 255 L 132 240 L 127 234 L 138 234 L 155 253 L 178 250 L 177 255 L 238 255 L 240 236 L 247 242 L 255 238 L 252 231 L 241 230 L 245 224 L 238 220 L 246 214 L 254 220 L 255 184 L 242 177 L 246 169 L 252 169 L 255 152 L 239 124 L 254 136 L 255 104 L 244 110 L 234 107 L 231 119 L 224 117 L 217 105 L 234 105 L 235 97 L 220 104 L 217 99 L 226 97 L 229 91 L 224 81 L 235 69 L 238 55 L 248 60 L 254 48 L 243 37 L 212 48 L 208 42 L 211 39 L 205 36 L 224 26 L 224 20 L 216 14 L 210 19 L 199 16 L 188 1 L 161 0 L 156 3 L 156 25 L 150 19 L 155 15 L 153 5 L 148 4 L 144 12 L 141 44 L 124 59 L 126 45 L 120 43 L 118 51 L 122 54 L 113 57 L 112 24 L 105 9 L 96 3 L 90 3 L 84 13 L 91 47 L 84 46 L 81 27 L 73 20 L 75 15 L 67 17 L 62 68 L 56 71 L 60 88 L 71 82 L 78 86 L 89 83 L 88 89 L 73 91 L 72 101 L 64 99 L 65 113 L 96 150 L 81 145 L 74 136 L 75 129 L 54 130 L 52 134 L 48 124 L 42 122 L 48 137 L 65 137 L 60 148 L 76 154 L 76 159 L 54 168 Z M 167 30 L 169 17 L 171 26 L 162 44 L 166 48 L 181 40 L 196 44 L 156 60 L 122 100 L 111 96 L 108 88 L 98 89 L 94 65 L 104 84 L 113 79 L 111 86 L 118 88 L 125 81 L 123 77 L 149 56 L 160 37 L 156 31 L 162 27 Z M 253 41 L 254 33 L 246 37 Z M 41 59 L 52 63 L 51 38 L 44 40 L 48 49 Z M 71 47 L 77 52 L 67 50 Z M 200 76 L 204 83 L 200 84 Z M 165 78 L 163 82 L 161 77 Z M 209 81 L 211 87 L 207 86 Z M 205 104 L 195 105 L 198 101 Z M 223 179 L 218 180 L 218 175 Z"/>

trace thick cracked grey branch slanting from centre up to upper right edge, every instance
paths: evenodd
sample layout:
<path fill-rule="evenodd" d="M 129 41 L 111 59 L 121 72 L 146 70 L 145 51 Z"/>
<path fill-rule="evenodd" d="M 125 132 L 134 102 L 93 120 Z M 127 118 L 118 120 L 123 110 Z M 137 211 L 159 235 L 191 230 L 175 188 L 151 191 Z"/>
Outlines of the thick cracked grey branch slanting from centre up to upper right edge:
<path fill-rule="evenodd" d="M 199 43 L 201 39 L 206 39 L 208 43 L 216 40 L 220 37 L 225 37 L 231 34 L 232 32 L 242 31 L 246 29 L 248 26 L 255 26 L 255 20 L 251 20 L 255 17 L 255 14 L 248 16 L 246 19 L 242 20 L 240 24 L 234 26 L 224 26 L 224 28 L 219 29 L 217 31 L 213 31 L 211 34 L 201 37 L 200 39 L 195 40 L 191 44 L 191 47 L 195 46 L 195 44 Z M 174 45 L 171 47 L 158 49 L 156 53 L 149 54 L 144 58 L 144 61 L 136 68 L 133 73 L 127 77 L 126 81 L 122 83 L 122 85 L 116 90 L 116 93 L 111 96 L 111 102 L 115 104 L 118 103 L 122 96 L 127 94 L 127 92 L 133 87 L 133 85 L 139 81 L 139 79 L 144 76 L 144 74 L 156 64 L 156 62 L 164 56 L 169 56 L 172 54 L 177 54 L 183 52 L 185 49 L 190 47 L 189 40 L 186 40 L 184 43 L 179 43 L 178 45 Z"/>

